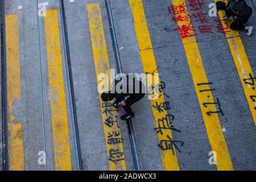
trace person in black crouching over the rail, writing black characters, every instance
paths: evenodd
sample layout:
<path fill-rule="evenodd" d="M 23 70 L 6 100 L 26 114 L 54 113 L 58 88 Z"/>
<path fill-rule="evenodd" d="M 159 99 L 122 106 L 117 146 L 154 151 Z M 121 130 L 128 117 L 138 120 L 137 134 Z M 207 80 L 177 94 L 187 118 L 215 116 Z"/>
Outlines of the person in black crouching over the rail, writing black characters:
<path fill-rule="evenodd" d="M 123 79 L 126 79 L 124 81 Z M 121 85 L 121 92 L 117 92 L 117 85 Z M 127 120 L 133 118 L 135 114 L 133 110 L 131 110 L 131 105 L 134 105 L 146 94 L 146 88 L 144 84 L 137 80 L 134 75 L 128 75 L 125 77 L 121 77 L 120 80 L 114 81 L 114 91 L 113 88 L 109 92 L 104 92 L 101 94 L 101 99 L 104 102 L 112 101 L 115 98 L 114 106 L 118 107 L 119 103 L 121 103 L 123 109 L 125 109 L 126 114 L 121 116 L 122 120 Z M 125 100 L 126 97 L 127 100 Z"/>

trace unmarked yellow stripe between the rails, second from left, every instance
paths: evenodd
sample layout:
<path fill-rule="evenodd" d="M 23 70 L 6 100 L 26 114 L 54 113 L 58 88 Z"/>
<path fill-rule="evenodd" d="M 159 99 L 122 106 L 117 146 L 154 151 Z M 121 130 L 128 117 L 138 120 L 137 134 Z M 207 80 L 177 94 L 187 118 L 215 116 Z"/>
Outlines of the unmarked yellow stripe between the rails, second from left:
<path fill-rule="evenodd" d="M 45 27 L 55 169 L 68 171 L 72 168 L 57 10 L 46 12 Z"/>

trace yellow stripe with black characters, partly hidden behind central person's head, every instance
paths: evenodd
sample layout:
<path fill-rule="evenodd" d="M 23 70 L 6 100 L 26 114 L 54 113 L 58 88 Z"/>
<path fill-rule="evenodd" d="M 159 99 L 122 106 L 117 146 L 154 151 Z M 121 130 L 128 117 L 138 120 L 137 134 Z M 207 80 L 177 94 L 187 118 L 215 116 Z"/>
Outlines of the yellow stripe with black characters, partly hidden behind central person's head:
<path fill-rule="evenodd" d="M 110 78 L 109 58 L 108 58 L 108 51 L 106 47 L 104 28 L 102 24 L 100 4 L 87 5 L 87 10 L 88 10 L 90 36 L 92 40 L 96 76 L 98 78 L 98 76 L 101 73 L 105 73 Z M 97 79 L 97 81 L 98 81 L 98 84 L 100 84 L 102 80 Z M 113 121 L 117 121 L 117 119 L 115 118 L 115 116 L 117 115 L 117 112 L 111 111 L 113 115 L 108 113 L 108 111 L 106 112 L 106 109 L 115 110 L 115 108 L 113 106 L 108 108 L 104 107 L 104 102 L 101 100 L 101 95 L 100 95 L 100 102 L 101 102 L 102 121 L 104 125 L 104 133 L 105 133 L 105 140 L 106 140 L 106 148 L 108 151 L 108 157 L 110 159 L 109 169 L 111 171 L 116 171 L 116 170 L 125 171 L 126 164 L 125 164 L 125 156 L 123 154 L 124 153 L 123 144 L 122 143 L 112 144 L 109 140 L 109 135 L 113 135 L 114 133 L 119 134 L 117 138 L 122 138 L 119 127 L 117 123 L 114 123 L 113 126 L 110 125 L 111 127 L 106 125 L 107 120 L 111 120 L 109 118 L 112 118 Z M 112 160 L 114 160 L 114 162 Z"/>

